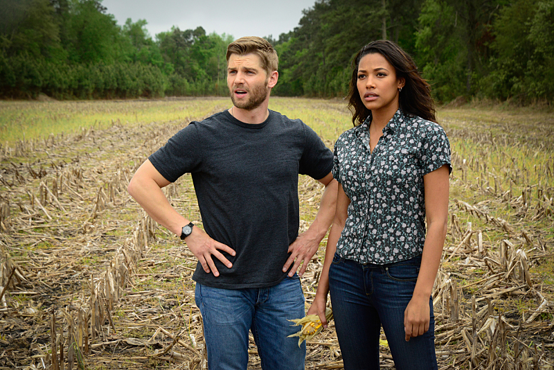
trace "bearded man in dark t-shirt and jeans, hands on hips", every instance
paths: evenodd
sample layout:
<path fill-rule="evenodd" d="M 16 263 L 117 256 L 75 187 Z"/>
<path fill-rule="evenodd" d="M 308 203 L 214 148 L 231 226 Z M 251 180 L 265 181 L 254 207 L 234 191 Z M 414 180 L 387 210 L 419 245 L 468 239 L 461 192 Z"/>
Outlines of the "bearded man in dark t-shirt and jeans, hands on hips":
<path fill-rule="evenodd" d="M 249 331 L 262 368 L 304 369 L 305 344 L 287 338 L 305 315 L 300 275 L 334 215 L 332 152 L 300 120 L 269 111 L 277 53 L 242 37 L 227 49 L 233 106 L 173 136 L 136 171 L 129 193 L 198 258 L 193 280 L 208 367 L 247 369 Z M 170 206 L 161 188 L 192 173 L 204 229 Z M 298 236 L 298 174 L 325 185 L 316 219 Z"/>

